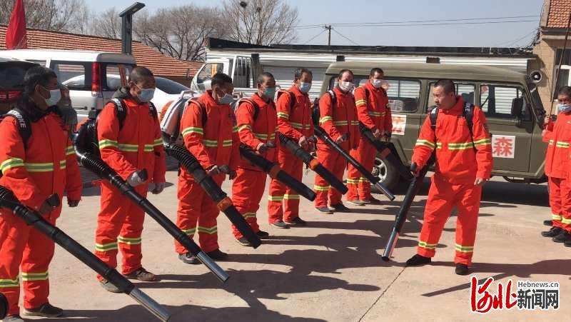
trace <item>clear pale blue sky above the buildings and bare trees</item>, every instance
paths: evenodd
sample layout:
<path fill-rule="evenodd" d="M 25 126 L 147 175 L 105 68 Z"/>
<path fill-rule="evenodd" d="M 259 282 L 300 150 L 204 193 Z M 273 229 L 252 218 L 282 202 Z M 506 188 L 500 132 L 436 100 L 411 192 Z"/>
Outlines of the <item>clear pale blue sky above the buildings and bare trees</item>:
<path fill-rule="evenodd" d="M 161 6 L 194 3 L 218 6 L 221 0 L 152 0 L 144 1 L 149 10 Z M 359 45 L 375 46 L 525 46 L 532 31 L 539 26 L 543 0 L 286 0 L 299 10 L 299 25 L 374 23 L 385 21 L 426 21 L 443 19 L 475 19 L 508 16 L 534 16 L 507 19 L 530 20 L 510 24 L 464 24 L 448 26 L 358 26 L 334 27 L 335 31 Z M 92 9 L 102 11 L 116 6 L 124 9 L 133 0 L 88 1 Z M 323 29 L 299 29 L 296 44 L 318 35 Z M 335 32 L 333 45 L 348 45 L 350 41 Z M 327 33 L 310 44 L 327 44 Z"/>

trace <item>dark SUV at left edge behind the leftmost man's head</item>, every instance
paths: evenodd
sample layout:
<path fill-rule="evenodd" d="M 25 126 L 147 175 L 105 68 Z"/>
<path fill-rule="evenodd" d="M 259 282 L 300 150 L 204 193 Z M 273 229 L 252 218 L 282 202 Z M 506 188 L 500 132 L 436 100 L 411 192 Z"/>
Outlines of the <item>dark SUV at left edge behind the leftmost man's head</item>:
<path fill-rule="evenodd" d="M 0 114 L 10 111 L 24 91 L 24 75 L 36 64 L 0 58 Z"/>

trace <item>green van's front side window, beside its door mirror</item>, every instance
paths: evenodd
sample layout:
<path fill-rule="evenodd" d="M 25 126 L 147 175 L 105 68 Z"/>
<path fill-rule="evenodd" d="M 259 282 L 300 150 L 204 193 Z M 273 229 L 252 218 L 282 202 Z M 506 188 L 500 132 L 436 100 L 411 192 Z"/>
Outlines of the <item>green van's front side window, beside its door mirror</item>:
<path fill-rule="evenodd" d="M 516 119 L 517 116 L 512 115 L 512 104 L 514 104 L 514 99 L 522 98 L 522 116 L 524 119 L 529 119 L 529 104 L 520 87 L 495 84 L 480 86 L 480 106 L 486 117 Z"/>

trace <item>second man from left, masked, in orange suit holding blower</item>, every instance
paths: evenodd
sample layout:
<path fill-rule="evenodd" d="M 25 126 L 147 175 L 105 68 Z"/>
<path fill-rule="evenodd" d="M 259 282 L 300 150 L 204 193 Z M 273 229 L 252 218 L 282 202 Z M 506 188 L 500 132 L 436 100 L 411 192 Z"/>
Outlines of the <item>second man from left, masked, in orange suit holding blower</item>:
<path fill-rule="evenodd" d="M 153 73 L 141 66 L 131 71 L 128 86 L 113 94 L 126 110 L 118 119 L 117 101 L 110 101 L 98 115 L 97 136 L 101 159 L 121 178 L 146 196 L 148 184 L 154 183 L 154 194 L 165 187 L 165 152 L 156 109 L 151 103 L 156 88 Z M 145 179 L 143 171 L 148 173 Z M 117 253 L 123 256 L 122 273 L 139 281 L 156 281 L 156 276 L 141 264 L 143 222 L 145 212 L 108 181 L 101 181 L 101 211 L 97 216 L 95 255 L 108 266 L 117 267 Z M 101 286 L 113 293 L 118 288 L 97 276 Z"/>

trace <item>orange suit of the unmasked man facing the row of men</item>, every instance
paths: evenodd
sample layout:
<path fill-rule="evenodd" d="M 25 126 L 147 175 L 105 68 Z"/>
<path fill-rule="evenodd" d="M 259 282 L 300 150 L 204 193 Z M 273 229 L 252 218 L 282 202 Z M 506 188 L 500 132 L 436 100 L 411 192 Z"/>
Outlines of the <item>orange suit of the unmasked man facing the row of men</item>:
<path fill-rule="evenodd" d="M 412 161 L 422 168 L 436 149 L 435 174 L 426 201 L 418 254 L 425 257 L 435 255 L 444 224 L 456 206 L 458 220 L 454 261 L 470 266 L 482 197 L 482 187 L 474 183 L 476 178 L 490 178 L 492 143 L 482 110 L 474 108 L 472 138 L 463 118 L 463 109 L 464 101 L 460 97 L 452 109 L 438 109 L 435 131 L 430 126 L 430 116 L 425 120 Z"/>

